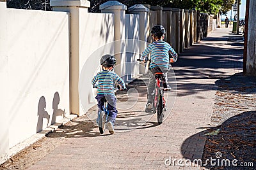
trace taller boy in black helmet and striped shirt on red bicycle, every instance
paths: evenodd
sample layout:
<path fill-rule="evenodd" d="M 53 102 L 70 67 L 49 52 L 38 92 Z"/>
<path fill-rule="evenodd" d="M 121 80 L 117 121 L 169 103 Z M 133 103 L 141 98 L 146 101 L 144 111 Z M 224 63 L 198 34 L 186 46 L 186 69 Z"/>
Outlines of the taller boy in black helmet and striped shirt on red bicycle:
<path fill-rule="evenodd" d="M 167 73 L 170 71 L 170 62 L 176 62 L 178 55 L 170 44 L 163 41 L 164 34 L 166 34 L 166 31 L 162 25 L 155 25 L 152 27 L 151 36 L 154 39 L 154 42 L 148 45 L 140 57 L 140 60 L 145 61 L 148 54 L 151 53 L 146 112 L 150 112 L 152 110 L 153 92 L 156 82 L 154 73 L 164 73 L 164 90 L 171 90 L 170 86 L 168 85 Z"/>

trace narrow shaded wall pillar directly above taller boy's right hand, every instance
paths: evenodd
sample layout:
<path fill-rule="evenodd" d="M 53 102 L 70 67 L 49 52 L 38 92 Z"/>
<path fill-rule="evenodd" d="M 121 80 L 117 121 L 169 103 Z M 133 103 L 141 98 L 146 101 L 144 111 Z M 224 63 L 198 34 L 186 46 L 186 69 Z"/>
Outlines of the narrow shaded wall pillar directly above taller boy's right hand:
<path fill-rule="evenodd" d="M 180 9 L 172 8 L 171 44 L 175 52 L 180 53 Z"/>

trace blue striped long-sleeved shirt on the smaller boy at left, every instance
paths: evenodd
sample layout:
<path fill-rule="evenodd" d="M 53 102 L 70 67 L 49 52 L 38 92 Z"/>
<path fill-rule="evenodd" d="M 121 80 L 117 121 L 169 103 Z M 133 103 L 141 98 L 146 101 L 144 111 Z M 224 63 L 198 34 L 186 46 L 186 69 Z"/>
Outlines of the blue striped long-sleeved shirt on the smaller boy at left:
<path fill-rule="evenodd" d="M 125 89 L 124 80 L 122 80 L 122 78 L 120 78 L 115 72 L 109 70 L 100 71 L 92 80 L 92 85 L 97 86 L 97 94 L 112 94 L 115 96 L 115 83 L 118 83 L 122 89 Z"/>

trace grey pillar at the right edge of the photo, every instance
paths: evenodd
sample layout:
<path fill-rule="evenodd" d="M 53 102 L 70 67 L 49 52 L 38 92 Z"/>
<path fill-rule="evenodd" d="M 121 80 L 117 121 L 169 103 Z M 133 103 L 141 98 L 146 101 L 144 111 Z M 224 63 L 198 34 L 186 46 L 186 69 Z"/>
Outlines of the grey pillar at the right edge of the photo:
<path fill-rule="evenodd" d="M 246 74 L 256 76 L 256 1 L 249 3 L 249 19 L 248 19 L 248 43 L 247 43 L 247 59 Z"/>

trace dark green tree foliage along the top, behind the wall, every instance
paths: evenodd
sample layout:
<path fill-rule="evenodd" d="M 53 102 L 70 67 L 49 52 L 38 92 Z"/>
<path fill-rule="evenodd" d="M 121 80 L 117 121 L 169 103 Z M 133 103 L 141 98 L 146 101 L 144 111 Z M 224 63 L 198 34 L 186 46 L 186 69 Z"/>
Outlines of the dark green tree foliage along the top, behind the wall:
<path fill-rule="evenodd" d="M 108 0 L 90 0 L 90 12 L 100 12 L 100 4 Z M 200 12 L 216 14 L 221 11 L 223 14 L 232 9 L 235 0 L 118 0 L 128 7 L 134 4 L 150 4 L 151 6 L 163 6 L 180 8 L 186 10 L 199 10 Z M 29 10 L 51 10 L 50 0 L 7 0 L 8 8 L 19 8 Z"/>

